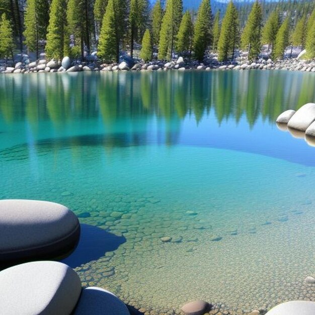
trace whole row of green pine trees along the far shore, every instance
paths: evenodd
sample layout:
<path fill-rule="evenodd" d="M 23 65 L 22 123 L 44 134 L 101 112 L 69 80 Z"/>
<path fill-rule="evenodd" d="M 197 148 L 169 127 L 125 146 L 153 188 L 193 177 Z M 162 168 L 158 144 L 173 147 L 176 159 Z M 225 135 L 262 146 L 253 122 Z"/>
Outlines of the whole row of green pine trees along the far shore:
<path fill-rule="evenodd" d="M 241 7 L 231 0 L 224 15 L 217 11 L 215 16 L 210 0 L 202 0 L 197 12 L 183 12 L 183 0 L 156 0 L 153 6 L 149 0 L 27 0 L 24 23 L 19 5 L 0 0 L 0 57 L 11 56 L 17 43 L 37 57 L 44 47 L 47 58 L 56 59 L 84 58 L 97 46 L 100 59 L 115 62 L 121 48 L 132 57 L 135 43 L 141 42 L 145 61 L 157 49 L 162 60 L 177 53 L 202 61 L 210 49 L 225 61 L 238 48 L 255 60 L 263 44 L 273 59 L 282 58 L 289 44 L 305 47 L 308 58 L 315 58 L 315 8 L 306 0 L 278 6 L 257 0 Z M 249 14 L 242 26 L 244 12 Z"/>

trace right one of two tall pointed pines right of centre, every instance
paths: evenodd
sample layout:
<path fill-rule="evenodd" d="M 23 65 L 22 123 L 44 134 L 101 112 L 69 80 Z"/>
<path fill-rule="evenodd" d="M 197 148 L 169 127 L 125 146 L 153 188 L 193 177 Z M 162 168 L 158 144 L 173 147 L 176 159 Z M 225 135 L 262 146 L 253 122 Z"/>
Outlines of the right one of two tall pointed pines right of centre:
<path fill-rule="evenodd" d="M 248 48 L 249 60 L 257 59 L 261 51 L 262 7 L 258 1 L 253 5 L 242 34 L 242 47 Z"/>

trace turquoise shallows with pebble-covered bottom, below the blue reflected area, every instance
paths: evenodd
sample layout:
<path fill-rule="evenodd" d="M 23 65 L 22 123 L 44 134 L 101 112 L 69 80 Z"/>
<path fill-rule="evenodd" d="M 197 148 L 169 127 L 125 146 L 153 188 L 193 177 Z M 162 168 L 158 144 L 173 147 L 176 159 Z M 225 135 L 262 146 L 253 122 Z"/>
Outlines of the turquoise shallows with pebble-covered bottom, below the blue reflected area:
<path fill-rule="evenodd" d="M 75 268 L 84 286 L 145 315 L 180 314 L 195 299 L 233 315 L 315 300 L 304 283 L 315 274 L 313 168 L 214 148 L 47 143 L 37 166 L 25 145 L 0 151 L 0 197 L 59 202 L 125 238 Z"/>

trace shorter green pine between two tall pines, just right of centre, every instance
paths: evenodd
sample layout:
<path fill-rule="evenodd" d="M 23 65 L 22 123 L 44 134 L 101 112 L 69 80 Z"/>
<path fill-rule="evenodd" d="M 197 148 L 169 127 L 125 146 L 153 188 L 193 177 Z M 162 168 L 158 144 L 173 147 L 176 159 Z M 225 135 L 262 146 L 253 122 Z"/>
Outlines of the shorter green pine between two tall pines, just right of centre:
<path fill-rule="evenodd" d="M 177 34 L 176 49 L 178 52 L 191 51 L 193 38 L 193 22 L 189 11 L 183 15 L 183 19 Z"/>

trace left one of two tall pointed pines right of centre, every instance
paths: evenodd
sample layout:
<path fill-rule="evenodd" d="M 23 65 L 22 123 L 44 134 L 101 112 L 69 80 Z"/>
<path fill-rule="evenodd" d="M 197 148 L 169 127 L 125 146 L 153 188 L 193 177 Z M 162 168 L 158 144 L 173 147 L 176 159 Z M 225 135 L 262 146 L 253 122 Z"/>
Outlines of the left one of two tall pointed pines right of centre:
<path fill-rule="evenodd" d="M 218 40 L 218 60 L 224 61 L 233 56 L 235 47 L 239 44 L 238 10 L 230 1 L 222 21 L 221 33 Z"/>

